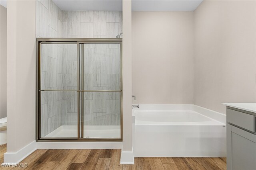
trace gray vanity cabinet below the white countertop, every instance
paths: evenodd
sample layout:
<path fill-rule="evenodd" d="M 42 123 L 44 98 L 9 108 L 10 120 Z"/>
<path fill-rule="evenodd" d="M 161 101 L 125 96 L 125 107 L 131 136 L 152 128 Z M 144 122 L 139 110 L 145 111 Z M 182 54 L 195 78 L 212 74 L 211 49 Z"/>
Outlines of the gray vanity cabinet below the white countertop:
<path fill-rule="evenodd" d="M 256 170 L 256 113 L 227 107 L 227 169 Z"/>

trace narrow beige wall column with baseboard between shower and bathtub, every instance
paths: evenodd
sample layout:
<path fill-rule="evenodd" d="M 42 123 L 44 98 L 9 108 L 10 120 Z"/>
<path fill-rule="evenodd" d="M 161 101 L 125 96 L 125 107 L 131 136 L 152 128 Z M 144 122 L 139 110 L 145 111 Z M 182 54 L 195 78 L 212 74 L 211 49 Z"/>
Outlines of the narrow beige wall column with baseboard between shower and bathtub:
<path fill-rule="evenodd" d="M 132 152 L 132 1 L 123 0 L 123 148 L 121 163 L 134 163 Z"/>

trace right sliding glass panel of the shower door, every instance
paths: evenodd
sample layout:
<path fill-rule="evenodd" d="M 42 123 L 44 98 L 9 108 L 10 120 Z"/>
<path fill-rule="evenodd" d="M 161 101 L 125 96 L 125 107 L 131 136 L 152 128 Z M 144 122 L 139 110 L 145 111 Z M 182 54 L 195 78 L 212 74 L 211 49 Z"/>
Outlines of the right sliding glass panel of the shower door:
<path fill-rule="evenodd" d="M 120 138 L 120 43 L 82 44 L 82 63 L 81 138 Z"/>

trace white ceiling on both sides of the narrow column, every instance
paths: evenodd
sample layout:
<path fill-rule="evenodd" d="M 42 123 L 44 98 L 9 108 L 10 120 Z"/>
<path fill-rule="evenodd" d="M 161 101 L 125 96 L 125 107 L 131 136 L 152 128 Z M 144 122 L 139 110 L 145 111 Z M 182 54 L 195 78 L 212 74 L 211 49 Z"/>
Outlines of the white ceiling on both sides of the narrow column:
<path fill-rule="evenodd" d="M 122 11 L 122 0 L 53 0 L 62 10 Z M 203 0 L 132 0 L 132 11 L 194 11 Z"/>

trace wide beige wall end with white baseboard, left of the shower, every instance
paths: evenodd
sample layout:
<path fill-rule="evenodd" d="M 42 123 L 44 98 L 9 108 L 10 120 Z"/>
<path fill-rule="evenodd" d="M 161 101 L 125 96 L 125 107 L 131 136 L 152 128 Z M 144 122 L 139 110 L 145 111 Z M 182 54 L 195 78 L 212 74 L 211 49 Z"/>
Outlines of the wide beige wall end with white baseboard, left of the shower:
<path fill-rule="evenodd" d="M 36 1 L 7 1 L 7 153 L 17 163 L 36 149 Z"/>

